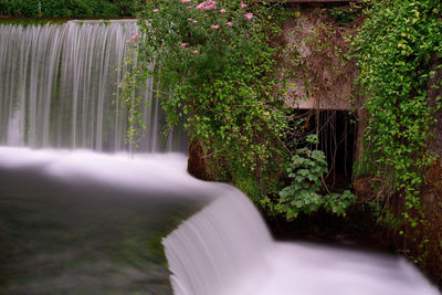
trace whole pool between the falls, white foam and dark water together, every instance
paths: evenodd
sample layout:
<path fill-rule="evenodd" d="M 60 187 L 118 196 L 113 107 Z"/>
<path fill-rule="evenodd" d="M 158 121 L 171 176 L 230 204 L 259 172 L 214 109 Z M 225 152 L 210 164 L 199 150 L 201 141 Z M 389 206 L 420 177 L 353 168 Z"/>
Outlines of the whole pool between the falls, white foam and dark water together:
<path fill-rule="evenodd" d="M 1 147 L 0 294 L 171 294 L 161 238 L 207 202 L 186 162 Z"/>

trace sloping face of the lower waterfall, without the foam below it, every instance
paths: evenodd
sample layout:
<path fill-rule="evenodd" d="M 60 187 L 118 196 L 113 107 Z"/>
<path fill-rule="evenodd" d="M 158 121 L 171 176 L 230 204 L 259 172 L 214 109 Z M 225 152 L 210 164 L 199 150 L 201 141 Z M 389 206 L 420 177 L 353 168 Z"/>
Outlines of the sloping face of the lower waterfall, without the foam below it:
<path fill-rule="evenodd" d="M 238 189 L 221 187 L 212 203 L 164 240 L 176 295 L 253 294 L 269 275 L 261 255 L 272 238 L 263 219 Z"/>

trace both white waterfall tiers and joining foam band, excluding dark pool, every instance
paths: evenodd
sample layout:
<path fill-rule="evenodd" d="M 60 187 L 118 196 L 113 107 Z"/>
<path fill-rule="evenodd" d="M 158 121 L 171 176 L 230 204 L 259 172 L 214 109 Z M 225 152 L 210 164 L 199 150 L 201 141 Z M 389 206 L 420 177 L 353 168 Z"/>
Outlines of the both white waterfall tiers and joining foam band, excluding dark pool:
<path fill-rule="evenodd" d="M 140 198 L 161 192 L 161 198 L 186 194 L 208 203 L 164 239 L 176 295 L 438 294 L 400 257 L 275 242 L 239 190 L 191 178 L 182 155 L 154 154 L 182 151 L 186 136 L 178 129 L 161 139 L 165 116 L 151 80 L 139 94 L 147 103 L 143 120 L 148 127 L 140 150 L 152 152 L 133 158 L 96 152 L 130 148 L 117 85 L 127 71 L 126 40 L 136 30 L 135 21 L 0 25 L 0 146 L 8 146 L 0 147 L 3 172 L 40 170 L 72 187 L 96 181 L 146 192 Z M 28 180 L 25 173 L 20 178 L 23 185 Z M 44 288 L 53 283 L 38 281 Z"/>

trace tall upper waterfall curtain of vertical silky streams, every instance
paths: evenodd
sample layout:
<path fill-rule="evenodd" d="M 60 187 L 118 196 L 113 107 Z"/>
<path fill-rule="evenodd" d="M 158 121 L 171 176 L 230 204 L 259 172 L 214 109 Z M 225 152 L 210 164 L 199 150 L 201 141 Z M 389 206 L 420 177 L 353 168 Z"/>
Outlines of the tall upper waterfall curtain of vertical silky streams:
<path fill-rule="evenodd" d="M 0 25 L 0 144 L 128 149 L 127 114 L 117 85 L 131 46 L 125 41 L 136 30 L 133 20 Z M 147 103 L 140 150 L 185 150 L 182 130 L 161 139 L 165 116 L 151 80 L 147 85 L 139 93 Z"/>

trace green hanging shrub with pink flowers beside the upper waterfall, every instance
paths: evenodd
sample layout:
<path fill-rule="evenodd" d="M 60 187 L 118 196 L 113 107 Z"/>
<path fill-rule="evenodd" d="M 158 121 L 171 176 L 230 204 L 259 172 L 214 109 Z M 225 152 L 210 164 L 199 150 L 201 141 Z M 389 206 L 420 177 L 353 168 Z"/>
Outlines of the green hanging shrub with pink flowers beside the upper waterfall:
<path fill-rule="evenodd" d="M 127 41 L 138 61 L 126 76 L 126 97 L 128 85 L 152 75 L 168 123 L 185 120 L 190 140 L 217 162 L 215 177 L 235 182 L 241 170 L 264 181 L 287 122 L 276 87 L 277 48 L 270 45 L 281 15 L 278 4 L 252 1 L 148 1 L 139 34 Z M 139 120 L 129 124 L 136 136 Z"/>

